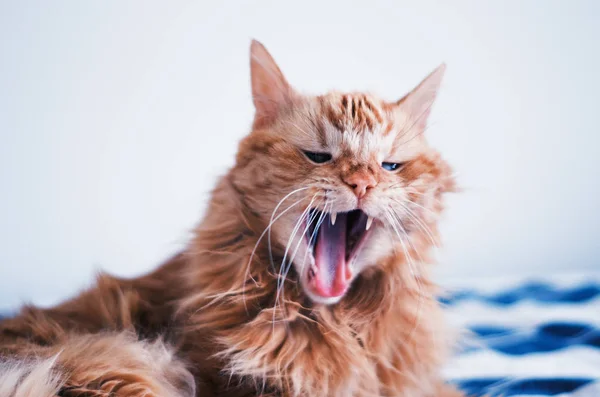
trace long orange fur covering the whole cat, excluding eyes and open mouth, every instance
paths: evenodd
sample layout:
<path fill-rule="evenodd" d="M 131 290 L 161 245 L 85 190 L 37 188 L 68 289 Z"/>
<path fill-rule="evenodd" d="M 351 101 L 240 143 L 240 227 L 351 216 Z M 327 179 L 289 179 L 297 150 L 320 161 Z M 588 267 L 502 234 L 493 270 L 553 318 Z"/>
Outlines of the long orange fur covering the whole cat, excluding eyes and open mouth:
<path fill-rule="evenodd" d="M 454 189 L 423 136 L 443 68 L 391 103 L 300 95 L 257 42 L 251 68 L 253 130 L 184 252 L 147 276 L 100 276 L 55 308 L 24 308 L 0 322 L 0 354 L 53 358 L 39 377 L 61 396 L 460 396 L 439 374 L 451 333 L 427 265 Z M 293 233 L 309 206 L 375 219 L 332 304 L 307 292 L 310 251 Z"/>

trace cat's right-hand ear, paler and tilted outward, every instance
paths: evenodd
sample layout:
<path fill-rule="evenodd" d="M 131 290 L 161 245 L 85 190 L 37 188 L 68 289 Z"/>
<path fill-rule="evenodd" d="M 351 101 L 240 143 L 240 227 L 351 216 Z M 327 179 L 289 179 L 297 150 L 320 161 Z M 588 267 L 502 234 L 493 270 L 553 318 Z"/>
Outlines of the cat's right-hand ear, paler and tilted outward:
<path fill-rule="evenodd" d="M 408 118 L 411 130 L 422 133 L 427 125 L 431 107 L 446 71 L 446 64 L 441 64 L 411 92 L 396 102 L 397 108 Z"/>

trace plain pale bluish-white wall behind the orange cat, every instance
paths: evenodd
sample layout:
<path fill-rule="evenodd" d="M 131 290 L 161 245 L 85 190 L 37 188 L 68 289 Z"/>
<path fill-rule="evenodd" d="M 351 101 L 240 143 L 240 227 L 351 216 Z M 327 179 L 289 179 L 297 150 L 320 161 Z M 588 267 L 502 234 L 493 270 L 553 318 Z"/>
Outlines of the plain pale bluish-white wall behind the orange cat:
<path fill-rule="evenodd" d="M 0 308 L 177 251 L 252 118 L 261 40 L 307 92 L 400 98 L 442 61 L 431 142 L 464 192 L 438 274 L 598 268 L 597 1 L 3 1 Z"/>

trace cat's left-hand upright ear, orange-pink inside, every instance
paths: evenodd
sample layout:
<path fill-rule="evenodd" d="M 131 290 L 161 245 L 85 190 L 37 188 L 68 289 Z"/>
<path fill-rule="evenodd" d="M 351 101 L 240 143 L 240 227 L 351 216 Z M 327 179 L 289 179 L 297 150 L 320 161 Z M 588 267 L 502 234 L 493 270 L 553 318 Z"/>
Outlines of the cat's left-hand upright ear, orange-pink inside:
<path fill-rule="evenodd" d="M 250 75 L 256 108 L 254 126 L 258 127 L 272 122 L 280 110 L 292 102 L 294 90 L 271 54 L 256 40 L 250 45 Z"/>

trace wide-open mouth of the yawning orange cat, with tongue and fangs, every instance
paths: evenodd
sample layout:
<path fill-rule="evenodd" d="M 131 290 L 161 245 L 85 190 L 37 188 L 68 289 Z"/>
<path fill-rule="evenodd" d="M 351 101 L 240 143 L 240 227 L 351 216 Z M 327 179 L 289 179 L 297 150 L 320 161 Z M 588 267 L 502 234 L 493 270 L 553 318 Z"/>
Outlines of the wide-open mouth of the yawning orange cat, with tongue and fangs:
<path fill-rule="evenodd" d="M 312 294 L 335 298 L 346 292 L 352 280 L 352 262 L 366 241 L 372 221 L 361 210 L 310 211 L 306 239 L 314 262 L 306 281 Z"/>

